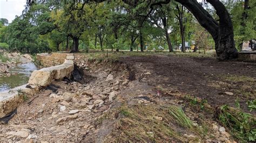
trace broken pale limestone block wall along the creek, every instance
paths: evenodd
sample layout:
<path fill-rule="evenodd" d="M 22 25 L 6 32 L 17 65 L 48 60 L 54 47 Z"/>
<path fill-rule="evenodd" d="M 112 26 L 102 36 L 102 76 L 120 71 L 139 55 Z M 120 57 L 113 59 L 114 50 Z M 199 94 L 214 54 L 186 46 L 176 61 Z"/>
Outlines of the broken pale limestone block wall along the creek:
<path fill-rule="evenodd" d="M 29 84 L 0 92 L 0 118 L 9 116 L 24 101 L 24 97 L 32 97 L 40 89 L 50 85 L 52 80 L 62 80 L 71 76 L 74 69 L 73 54 L 38 54 L 37 57 L 43 63 L 41 67 L 46 68 L 33 71 Z"/>

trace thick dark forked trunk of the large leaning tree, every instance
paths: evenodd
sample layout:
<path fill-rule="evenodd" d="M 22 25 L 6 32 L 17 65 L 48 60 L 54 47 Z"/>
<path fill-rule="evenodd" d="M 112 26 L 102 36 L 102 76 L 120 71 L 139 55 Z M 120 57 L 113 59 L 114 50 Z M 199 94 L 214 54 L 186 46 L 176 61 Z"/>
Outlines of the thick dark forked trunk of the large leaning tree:
<path fill-rule="evenodd" d="M 199 24 L 212 35 L 218 60 L 228 60 L 238 57 L 238 51 L 234 44 L 232 21 L 223 3 L 219 0 L 206 0 L 214 7 L 219 16 L 219 23 L 217 23 L 197 0 L 176 1 L 190 10 L 194 17 L 197 18 Z"/>

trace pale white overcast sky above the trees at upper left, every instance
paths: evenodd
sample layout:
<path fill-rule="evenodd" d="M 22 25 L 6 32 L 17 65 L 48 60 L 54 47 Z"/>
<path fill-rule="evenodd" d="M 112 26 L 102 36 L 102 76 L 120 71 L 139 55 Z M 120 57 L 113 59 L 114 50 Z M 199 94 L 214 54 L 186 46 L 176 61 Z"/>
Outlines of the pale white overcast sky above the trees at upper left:
<path fill-rule="evenodd" d="M 0 18 L 8 19 L 9 23 L 20 16 L 25 9 L 26 0 L 0 0 Z"/>

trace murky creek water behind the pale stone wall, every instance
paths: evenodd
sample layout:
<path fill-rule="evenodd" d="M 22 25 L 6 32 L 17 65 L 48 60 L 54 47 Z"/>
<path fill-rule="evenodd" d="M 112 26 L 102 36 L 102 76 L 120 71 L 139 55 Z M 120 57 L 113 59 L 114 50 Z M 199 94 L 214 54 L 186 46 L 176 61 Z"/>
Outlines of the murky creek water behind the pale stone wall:
<path fill-rule="evenodd" d="M 0 92 L 28 83 L 32 71 L 36 69 L 33 63 L 23 63 L 11 67 L 9 69 L 11 76 L 0 77 Z M 14 73 L 17 75 L 12 75 Z"/>

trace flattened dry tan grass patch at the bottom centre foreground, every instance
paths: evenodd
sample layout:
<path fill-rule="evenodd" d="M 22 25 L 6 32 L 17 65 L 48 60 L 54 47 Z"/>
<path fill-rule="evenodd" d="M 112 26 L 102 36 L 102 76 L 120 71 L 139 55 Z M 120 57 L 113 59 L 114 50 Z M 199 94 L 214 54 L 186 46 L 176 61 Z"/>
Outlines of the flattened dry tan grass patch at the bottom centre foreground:
<path fill-rule="evenodd" d="M 119 110 L 121 115 L 118 123 L 116 138 L 109 141 L 114 142 L 154 142 L 154 141 L 185 141 L 177 133 L 172 124 L 172 115 L 169 109 L 153 104 L 134 105 L 128 107 L 123 105 Z M 159 120 L 156 117 L 163 117 Z"/>

